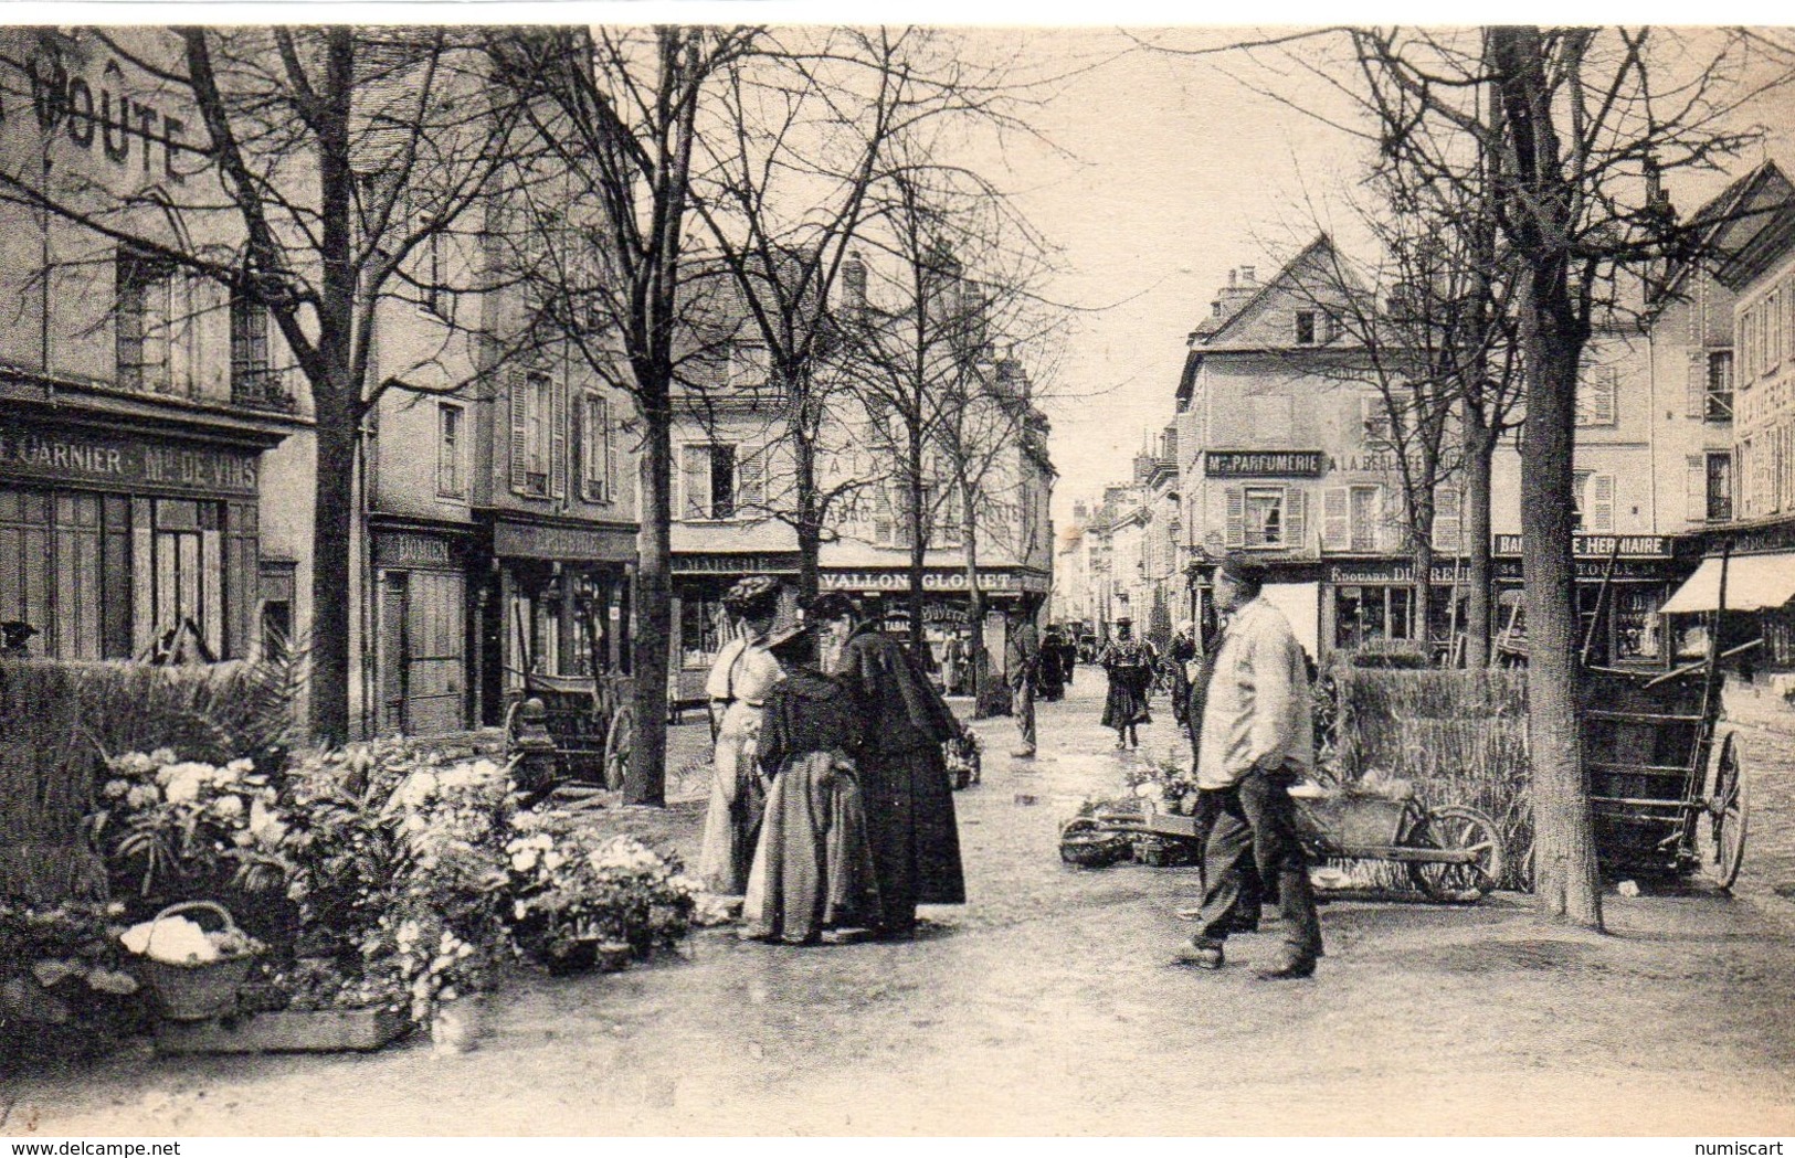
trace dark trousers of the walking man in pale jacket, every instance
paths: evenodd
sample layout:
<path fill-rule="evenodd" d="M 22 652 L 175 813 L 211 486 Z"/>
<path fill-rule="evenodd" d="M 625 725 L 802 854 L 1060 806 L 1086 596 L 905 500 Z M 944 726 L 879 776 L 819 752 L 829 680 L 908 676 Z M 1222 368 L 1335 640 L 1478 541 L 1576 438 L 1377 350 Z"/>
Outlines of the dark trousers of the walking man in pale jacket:
<path fill-rule="evenodd" d="M 1237 925 L 1256 920 L 1258 880 L 1276 884 L 1283 946 L 1294 959 L 1321 955 L 1321 918 L 1309 884 L 1309 862 L 1296 835 L 1289 785 L 1253 771 L 1228 789 L 1210 789 L 1215 821 L 1203 850 L 1203 938 L 1224 941 Z M 1253 878 L 1258 880 L 1253 880 Z"/>

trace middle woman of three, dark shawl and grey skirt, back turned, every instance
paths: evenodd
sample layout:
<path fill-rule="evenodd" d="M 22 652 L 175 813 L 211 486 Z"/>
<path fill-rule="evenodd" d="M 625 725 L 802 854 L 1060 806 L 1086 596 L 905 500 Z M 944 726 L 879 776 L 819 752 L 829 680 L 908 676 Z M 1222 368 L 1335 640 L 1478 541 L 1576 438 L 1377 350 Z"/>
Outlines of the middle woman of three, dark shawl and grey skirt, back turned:
<path fill-rule="evenodd" d="M 743 938 L 842 943 L 880 920 L 854 756 L 862 722 L 847 687 L 817 670 L 817 640 L 768 642 L 786 678 L 766 697 L 756 758 L 772 778 L 741 907 Z"/>

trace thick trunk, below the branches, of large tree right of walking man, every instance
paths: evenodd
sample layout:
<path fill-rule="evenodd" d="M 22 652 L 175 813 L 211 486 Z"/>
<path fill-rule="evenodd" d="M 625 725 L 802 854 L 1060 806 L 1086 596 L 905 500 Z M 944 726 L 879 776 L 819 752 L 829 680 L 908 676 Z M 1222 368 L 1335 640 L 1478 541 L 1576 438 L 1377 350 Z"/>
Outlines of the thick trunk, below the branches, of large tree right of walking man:
<path fill-rule="evenodd" d="M 1533 889 L 1542 916 L 1601 929 L 1596 841 L 1578 742 L 1572 450 L 1581 341 L 1563 267 L 1533 276 L 1522 319 L 1528 418 L 1520 464 L 1528 601 L 1528 746 L 1533 760 Z"/>

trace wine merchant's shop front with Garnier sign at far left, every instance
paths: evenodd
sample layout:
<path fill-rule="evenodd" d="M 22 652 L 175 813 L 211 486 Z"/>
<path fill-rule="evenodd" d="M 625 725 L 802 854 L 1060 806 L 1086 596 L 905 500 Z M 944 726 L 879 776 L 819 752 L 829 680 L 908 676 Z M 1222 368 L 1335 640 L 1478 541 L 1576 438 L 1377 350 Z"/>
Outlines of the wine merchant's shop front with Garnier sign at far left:
<path fill-rule="evenodd" d="M 0 620 L 59 660 L 255 649 L 260 454 L 287 430 L 0 414 Z"/>

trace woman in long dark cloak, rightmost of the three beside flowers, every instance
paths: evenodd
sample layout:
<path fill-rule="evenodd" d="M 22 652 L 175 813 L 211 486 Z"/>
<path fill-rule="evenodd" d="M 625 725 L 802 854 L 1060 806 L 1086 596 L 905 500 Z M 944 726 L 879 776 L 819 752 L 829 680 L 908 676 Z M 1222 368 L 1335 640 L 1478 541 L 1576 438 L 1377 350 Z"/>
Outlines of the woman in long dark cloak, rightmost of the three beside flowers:
<path fill-rule="evenodd" d="M 923 667 L 840 592 L 820 595 L 808 622 L 822 633 L 829 674 L 854 696 L 865 744 L 860 792 L 880 886 L 878 930 L 906 938 L 915 907 L 964 905 L 960 834 L 948 780 L 950 739 L 964 735 Z"/>

